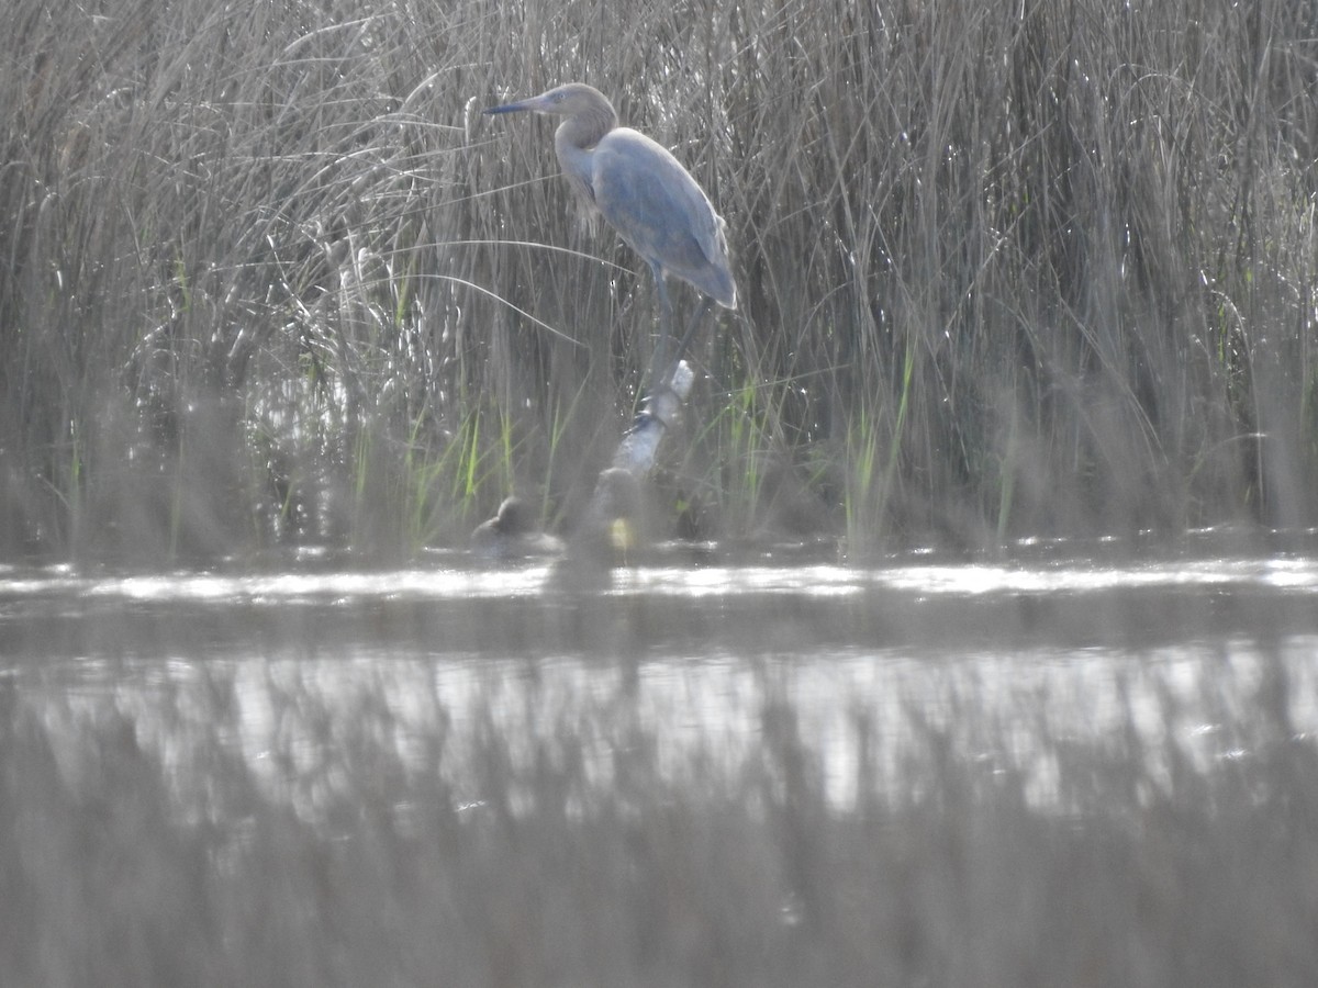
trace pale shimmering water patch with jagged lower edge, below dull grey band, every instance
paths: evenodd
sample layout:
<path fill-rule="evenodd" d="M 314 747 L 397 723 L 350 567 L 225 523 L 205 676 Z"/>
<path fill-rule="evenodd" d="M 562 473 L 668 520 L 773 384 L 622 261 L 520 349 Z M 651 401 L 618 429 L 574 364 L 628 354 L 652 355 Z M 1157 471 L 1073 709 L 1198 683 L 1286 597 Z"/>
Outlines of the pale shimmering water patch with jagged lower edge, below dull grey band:
<path fill-rule="evenodd" d="M 905 744 L 913 736 L 924 740 L 931 730 L 945 732 L 963 757 L 1010 759 L 998 768 L 1028 776 L 1031 793 L 1046 804 L 1056 798 L 1049 759 L 1058 739 L 1098 743 L 1132 728 L 1149 752 L 1162 755 L 1165 743 L 1174 742 L 1203 769 L 1239 755 L 1231 744 L 1222 747 L 1230 726 L 1278 660 L 1289 686 L 1288 722 L 1314 734 L 1314 655 L 1318 638 L 1288 640 L 1268 653 L 1235 642 L 1148 655 L 822 652 L 751 661 L 714 655 L 647 661 L 631 671 L 567 657 L 532 665 L 493 657 L 268 656 L 204 665 L 79 663 L 47 671 L 40 688 L 29 684 L 24 693 L 36 709 L 57 717 L 95 717 L 101 705 L 129 715 L 138 740 L 179 777 L 204 771 L 202 752 L 190 751 L 190 742 L 204 750 L 223 723 L 269 794 L 285 784 L 301 790 L 323 760 L 360 744 L 364 731 L 399 767 L 420 771 L 432 764 L 426 746 L 442 728 L 444 764 L 459 789 L 471 782 L 464 772 L 486 730 L 513 739 L 514 775 L 529 771 L 539 746 L 564 731 L 585 743 L 579 754 L 601 784 L 609 782 L 608 763 L 619 742 L 631 735 L 654 739 L 658 765 L 670 780 L 692 759 L 734 769 L 754 757 L 764 711 L 786 701 L 838 805 L 854 804 L 861 786 L 888 792 L 891 781 L 907 779 Z M 232 719 L 216 721 L 215 696 L 232 697 Z M 863 739 L 883 752 L 882 764 L 857 751 L 858 723 L 875 726 L 878 735 Z M 1010 744 L 995 751 L 1004 736 Z M 858 779 L 862 761 L 874 779 Z M 1144 768 L 1151 777 L 1165 773 L 1165 765 Z"/>

